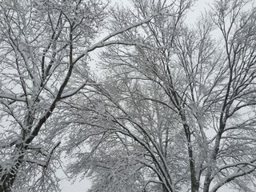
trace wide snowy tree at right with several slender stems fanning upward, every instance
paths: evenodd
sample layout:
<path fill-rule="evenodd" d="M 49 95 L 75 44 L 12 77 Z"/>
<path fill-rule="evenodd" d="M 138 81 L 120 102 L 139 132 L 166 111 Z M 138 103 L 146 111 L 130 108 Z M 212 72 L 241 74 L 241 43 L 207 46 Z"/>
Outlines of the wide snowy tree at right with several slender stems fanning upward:
<path fill-rule="evenodd" d="M 78 141 L 70 173 L 90 176 L 91 191 L 253 191 L 255 7 L 215 1 L 192 27 L 192 1 L 133 3 L 113 13 L 113 28 L 167 11 L 120 34 L 133 48 L 108 47 L 102 82 L 64 105 L 72 112 L 63 126 Z"/>

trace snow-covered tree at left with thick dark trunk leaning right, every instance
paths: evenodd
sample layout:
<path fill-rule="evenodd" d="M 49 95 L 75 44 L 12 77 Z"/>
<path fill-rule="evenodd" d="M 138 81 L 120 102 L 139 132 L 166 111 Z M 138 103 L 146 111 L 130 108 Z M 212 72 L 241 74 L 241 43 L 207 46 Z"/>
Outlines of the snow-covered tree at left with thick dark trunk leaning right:
<path fill-rule="evenodd" d="M 1 192 L 58 191 L 59 103 L 90 84 L 91 51 L 126 44 L 114 37 L 158 14 L 97 42 L 106 6 L 100 0 L 1 1 Z"/>

